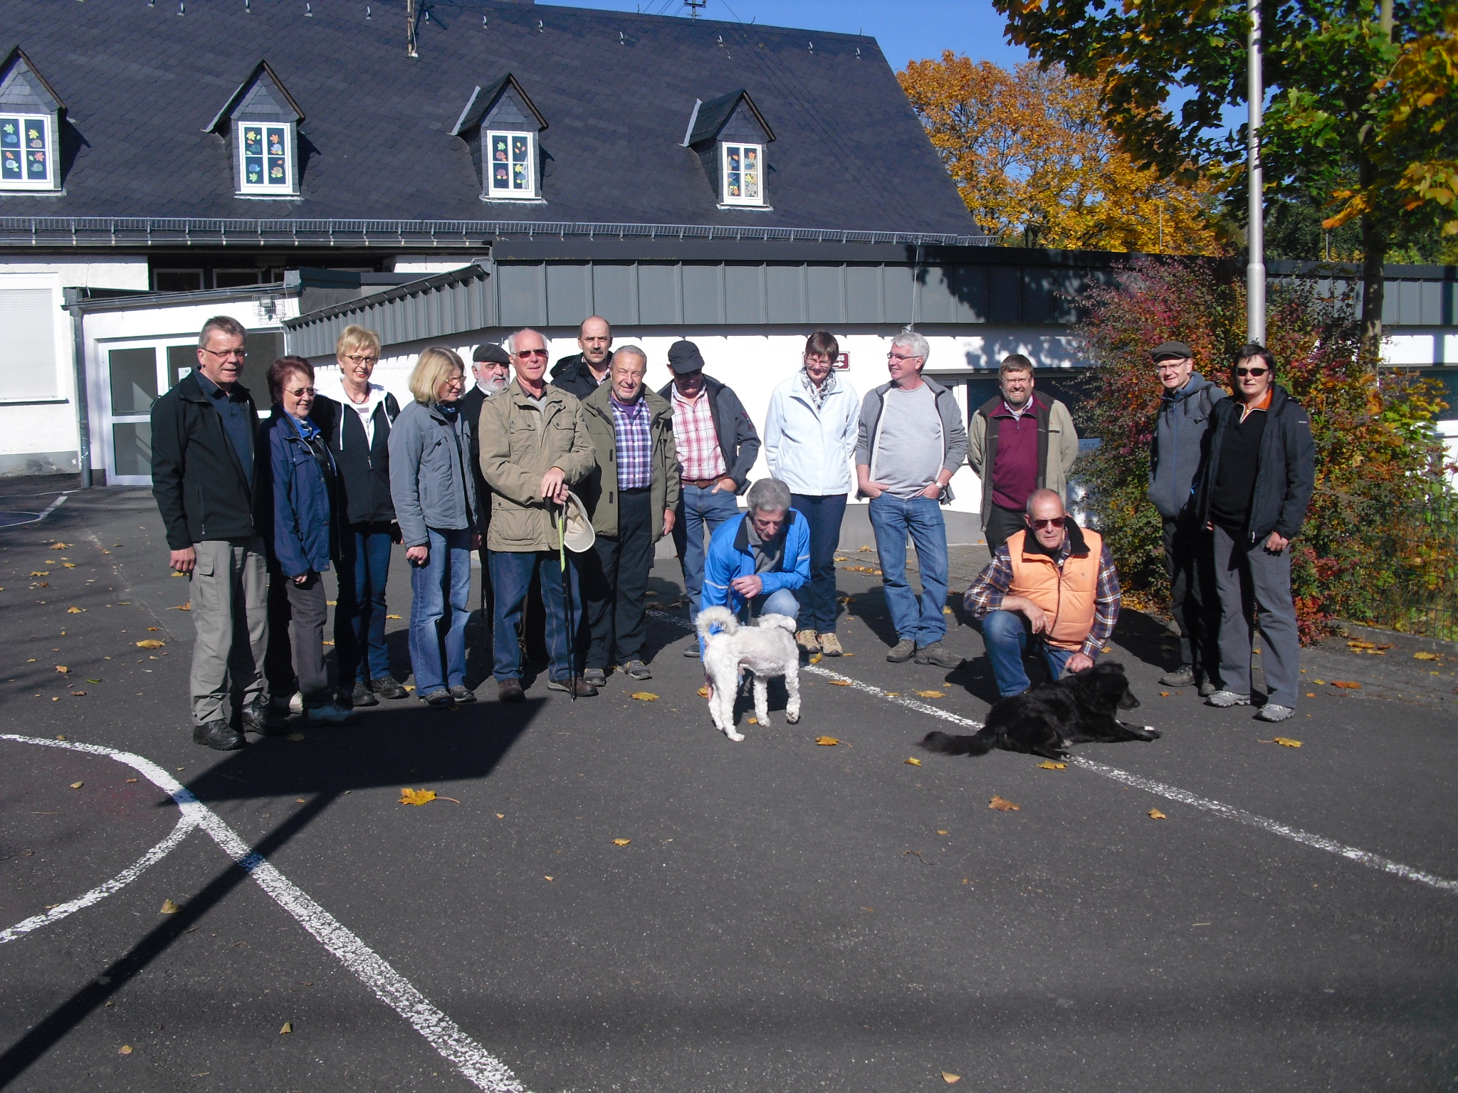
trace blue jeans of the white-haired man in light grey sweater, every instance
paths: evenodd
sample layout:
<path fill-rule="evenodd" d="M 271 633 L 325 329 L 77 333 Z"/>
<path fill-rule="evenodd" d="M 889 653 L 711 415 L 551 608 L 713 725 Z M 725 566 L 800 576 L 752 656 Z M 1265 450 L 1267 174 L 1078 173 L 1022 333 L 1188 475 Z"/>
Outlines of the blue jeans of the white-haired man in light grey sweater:
<path fill-rule="evenodd" d="M 942 506 L 932 497 L 881 494 L 870 501 L 870 528 L 876 533 L 881 583 L 897 637 L 930 646 L 946 635 L 946 525 Z M 907 581 L 907 535 L 916 546 L 921 596 Z"/>

